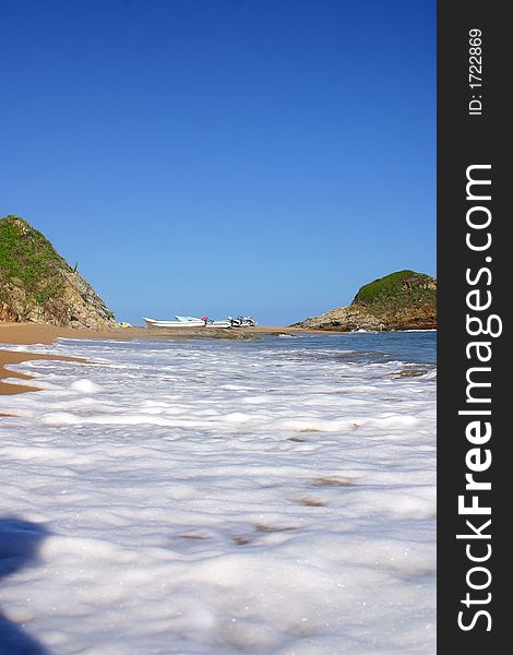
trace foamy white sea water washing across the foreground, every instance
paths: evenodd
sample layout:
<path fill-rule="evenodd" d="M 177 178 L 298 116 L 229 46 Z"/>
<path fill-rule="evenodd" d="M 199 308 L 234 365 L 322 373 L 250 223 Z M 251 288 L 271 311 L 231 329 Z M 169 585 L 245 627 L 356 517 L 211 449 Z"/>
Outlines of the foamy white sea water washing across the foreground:
<path fill-rule="evenodd" d="M 436 333 L 19 349 L 2 655 L 436 652 Z"/>

